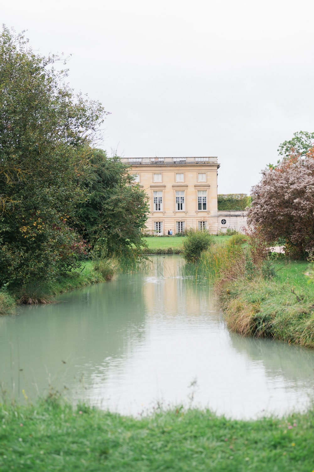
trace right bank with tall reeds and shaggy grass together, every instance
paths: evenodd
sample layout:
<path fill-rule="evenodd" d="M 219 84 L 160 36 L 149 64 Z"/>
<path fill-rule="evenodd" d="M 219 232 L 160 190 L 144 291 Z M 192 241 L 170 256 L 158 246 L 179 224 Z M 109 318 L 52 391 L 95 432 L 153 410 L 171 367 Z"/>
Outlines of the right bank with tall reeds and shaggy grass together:
<path fill-rule="evenodd" d="M 232 331 L 314 348 L 314 284 L 306 275 L 311 264 L 280 257 L 272 261 L 266 250 L 230 238 L 203 253 L 198 264 L 187 264 L 183 274 L 214 283 Z"/>

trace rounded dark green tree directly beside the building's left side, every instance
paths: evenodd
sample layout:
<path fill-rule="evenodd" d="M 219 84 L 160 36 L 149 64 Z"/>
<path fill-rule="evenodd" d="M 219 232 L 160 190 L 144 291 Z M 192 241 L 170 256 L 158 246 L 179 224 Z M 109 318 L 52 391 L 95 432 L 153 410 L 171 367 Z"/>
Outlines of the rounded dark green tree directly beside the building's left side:
<path fill-rule="evenodd" d="M 148 198 L 133 183 L 119 157 L 91 150 L 83 183 L 86 198 L 77 205 L 78 229 L 98 254 L 112 255 L 144 245 L 141 230 L 149 214 Z"/>

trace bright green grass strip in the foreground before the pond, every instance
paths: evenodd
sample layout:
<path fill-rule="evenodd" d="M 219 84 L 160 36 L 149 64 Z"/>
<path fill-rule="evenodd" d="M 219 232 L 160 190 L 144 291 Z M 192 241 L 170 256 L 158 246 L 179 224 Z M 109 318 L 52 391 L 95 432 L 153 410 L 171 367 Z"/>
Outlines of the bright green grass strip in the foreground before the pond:
<path fill-rule="evenodd" d="M 314 410 L 227 420 L 196 409 L 134 419 L 54 398 L 0 405 L 1 471 L 314 470 Z"/>

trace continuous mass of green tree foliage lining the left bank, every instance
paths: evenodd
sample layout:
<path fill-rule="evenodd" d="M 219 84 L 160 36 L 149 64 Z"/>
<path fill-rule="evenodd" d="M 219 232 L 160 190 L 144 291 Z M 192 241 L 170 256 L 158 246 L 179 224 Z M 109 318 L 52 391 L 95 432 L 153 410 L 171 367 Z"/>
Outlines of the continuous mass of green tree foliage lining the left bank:
<path fill-rule="evenodd" d="M 146 201 L 118 158 L 92 149 L 107 112 L 74 94 L 60 58 L 0 34 L 0 287 L 79 267 L 82 236 L 111 252 L 140 242 Z M 77 229 L 74 229 L 77 228 Z M 80 234 L 79 234 L 80 233 Z"/>

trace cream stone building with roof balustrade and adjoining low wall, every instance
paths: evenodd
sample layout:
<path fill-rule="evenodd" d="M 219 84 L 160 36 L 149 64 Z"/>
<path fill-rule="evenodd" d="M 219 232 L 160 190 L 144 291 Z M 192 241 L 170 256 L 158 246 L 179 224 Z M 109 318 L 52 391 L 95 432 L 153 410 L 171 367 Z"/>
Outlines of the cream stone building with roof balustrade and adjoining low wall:
<path fill-rule="evenodd" d="M 245 212 L 217 211 L 217 157 L 121 158 L 149 196 L 147 231 L 165 235 L 188 228 L 240 230 Z"/>

